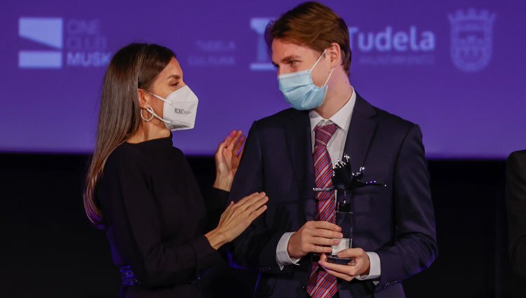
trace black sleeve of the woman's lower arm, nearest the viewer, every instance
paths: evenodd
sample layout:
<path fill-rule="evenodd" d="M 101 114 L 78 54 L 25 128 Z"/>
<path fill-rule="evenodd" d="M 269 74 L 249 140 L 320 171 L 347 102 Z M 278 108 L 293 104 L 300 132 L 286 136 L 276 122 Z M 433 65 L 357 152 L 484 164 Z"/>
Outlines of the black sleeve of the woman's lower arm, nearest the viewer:
<path fill-rule="evenodd" d="M 182 244 L 163 241 L 159 202 L 142 156 L 122 153 L 110 156 L 98 196 L 123 261 L 149 287 L 195 280 L 217 252 L 204 235 Z"/>

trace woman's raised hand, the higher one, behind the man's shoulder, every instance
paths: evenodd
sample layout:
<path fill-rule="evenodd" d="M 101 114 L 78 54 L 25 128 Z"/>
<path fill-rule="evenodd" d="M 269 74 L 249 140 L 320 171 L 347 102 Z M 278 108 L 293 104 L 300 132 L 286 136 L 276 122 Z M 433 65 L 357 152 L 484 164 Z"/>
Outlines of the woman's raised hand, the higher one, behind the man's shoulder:
<path fill-rule="evenodd" d="M 238 170 L 243 144 L 246 137 L 241 130 L 234 130 L 217 147 L 215 152 L 215 182 L 216 189 L 230 191 L 234 175 Z"/>

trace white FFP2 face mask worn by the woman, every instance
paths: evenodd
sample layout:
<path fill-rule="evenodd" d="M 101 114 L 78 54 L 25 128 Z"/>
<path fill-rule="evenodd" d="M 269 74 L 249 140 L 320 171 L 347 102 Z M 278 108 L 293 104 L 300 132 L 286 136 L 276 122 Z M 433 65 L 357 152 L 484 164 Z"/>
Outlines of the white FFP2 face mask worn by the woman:
<path fill-rule="evenodd" d="M 147 92 L 164 102 L 163 118 L 157 115 L 154 109 L 147 107 L 146 110 L 151 113 L 151 118 L 156 117 L 163 121 L 169 130 L 187 130 L 194 128 L 199 100 L 188 86 L 175 90 L 166 98 L 149 91 Z M 151 118 L 146 119 L 142 117 L 144 121 L 151 121 Z"/>

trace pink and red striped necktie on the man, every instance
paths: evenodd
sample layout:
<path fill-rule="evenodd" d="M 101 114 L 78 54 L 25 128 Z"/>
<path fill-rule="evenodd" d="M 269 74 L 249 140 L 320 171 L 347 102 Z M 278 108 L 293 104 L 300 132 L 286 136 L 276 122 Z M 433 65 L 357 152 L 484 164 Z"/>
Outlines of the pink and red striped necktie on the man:
<path fill-rule="evenodd" d="M 314 174 L 316 187 L 327 188 L 332 186 L 332 163 L 330 161 L 327 143 L 337 130 L 336 124 L 316 126 L 314 133 Z M 318 192 L 316 198 L 316 220 L 335 222 L 335 193 L 334 191 Z M 313 263 L 307 293 L 312 298 L 330 298 L 338 292 L 336 278 L 321 269 L 318 263 Z"/>

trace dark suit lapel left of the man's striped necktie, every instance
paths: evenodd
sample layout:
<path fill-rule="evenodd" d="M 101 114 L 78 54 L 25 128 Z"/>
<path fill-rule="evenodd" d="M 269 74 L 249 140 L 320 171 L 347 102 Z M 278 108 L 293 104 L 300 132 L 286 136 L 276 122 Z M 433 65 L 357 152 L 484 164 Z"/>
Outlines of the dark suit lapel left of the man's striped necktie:
<path fill-rule="evenodd" d="M 288 142 L 290 161 L 299 186 L 299 201 L 306 220 L 313 220 L 316 212 L 316 186 L 312 157 L 311 122 L 308 111 L 292 111 L 285 136 Z"/>

